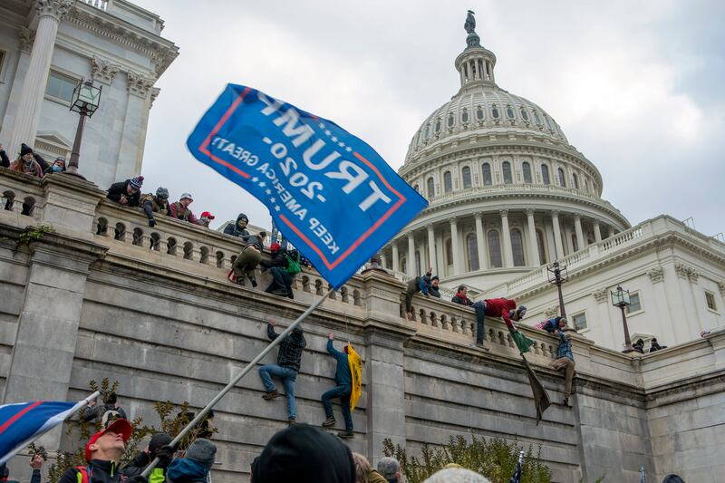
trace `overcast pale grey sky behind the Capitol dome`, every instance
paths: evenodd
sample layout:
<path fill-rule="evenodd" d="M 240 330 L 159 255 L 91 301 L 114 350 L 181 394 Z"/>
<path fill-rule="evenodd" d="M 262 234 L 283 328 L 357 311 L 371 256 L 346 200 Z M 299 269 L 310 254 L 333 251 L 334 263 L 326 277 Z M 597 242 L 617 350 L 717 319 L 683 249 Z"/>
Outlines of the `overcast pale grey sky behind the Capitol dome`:
<path fill-rule="evenodd" d="M 180 49 L 156 84 L 146 186 L 190 191 L 212 227 L 239 211 L 270 219 L 185 145 L 227 82 L 336 121 L 398 169 L 420 123 L 458 91 L 470 8 L 498 85 L 558 121 L 633 225 L 666 213 L 725 231 L 725 2 L 134 2 Z"/>

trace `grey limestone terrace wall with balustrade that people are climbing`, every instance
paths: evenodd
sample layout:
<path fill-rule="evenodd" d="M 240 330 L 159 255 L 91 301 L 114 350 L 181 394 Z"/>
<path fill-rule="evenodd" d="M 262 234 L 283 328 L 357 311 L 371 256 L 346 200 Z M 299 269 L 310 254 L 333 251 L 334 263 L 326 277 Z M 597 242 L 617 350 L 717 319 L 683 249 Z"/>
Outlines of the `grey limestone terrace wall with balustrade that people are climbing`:
<path fill-rule="evenodd" d="M 0 242 L 3 402 L 80 399 L 91 379 L 108 377 L 121 382 L 131 418 L 158 423 L 153 401 L 202 407 L 266 345 L 266 320 L 289 324 L 326 291 L 308 271 L 297 276 L 294 301 L 232 285 L 226 275 L 237 239 L 169 219 L 150 231 L 140 211 L 106 203 L 101 191 L 63 175 L 28 183 L 0 169 L 0 192 L 8 190 L 37 204 L 31 216 L 0 209 L 0 237 L 9 238 Z M 15 246 L 25 227 L 41 223 L 55 231 Z M 267 275 L 257 276 L 263 288 Z M 536 340 L 527 359 L 554 402 L 536 425 L 505 326 L 487 320 L 490 352 L 481 352 L 470 346 L 471 309 L 416 296 L 409 321 L 401 317 L 402 290 L 394 277 L 356 275 L 304 324 L 300 421 L 324 419 L 319 397 L 333 386 L 334 362 L 324 352 L 332 331 L 338 347 L 352 341 L 364 362 L 350 445 L 373 461 L 386 438 L 418 454 L 423 443 L 476 435 L 540 445 L 561 482 L 633 480 L 642 466 L 648 475 L 676 469 L 697 481 L 722 469 L 708 462 L 725 460 L 725 333 L 646 356 L 573 334 L 575 396 L 565 408 L 562 374 L 548 367 L 556 339 L 525 328 Z M 285 400 L 263 401 L 262 393 L 253 372 L 215 408 L 223 462 L 215 481 L 246 480 L 250 461 L 285 427 Z M 336 415 L 341 427 L 339 408 Z M 43 443 L 70 441 L 57 431 Z"/>

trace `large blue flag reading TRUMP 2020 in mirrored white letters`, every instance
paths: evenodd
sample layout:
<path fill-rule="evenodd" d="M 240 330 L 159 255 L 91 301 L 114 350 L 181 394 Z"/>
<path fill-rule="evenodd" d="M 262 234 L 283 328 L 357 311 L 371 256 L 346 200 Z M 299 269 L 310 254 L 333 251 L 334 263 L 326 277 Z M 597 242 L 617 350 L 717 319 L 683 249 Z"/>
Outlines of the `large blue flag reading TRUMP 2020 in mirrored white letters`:
<path fill-rule="evenodd" d="M 428 204 L 363 140 L 243 85 L 227 85 L 187 146 L 262 201 L 334 288 Z"/>

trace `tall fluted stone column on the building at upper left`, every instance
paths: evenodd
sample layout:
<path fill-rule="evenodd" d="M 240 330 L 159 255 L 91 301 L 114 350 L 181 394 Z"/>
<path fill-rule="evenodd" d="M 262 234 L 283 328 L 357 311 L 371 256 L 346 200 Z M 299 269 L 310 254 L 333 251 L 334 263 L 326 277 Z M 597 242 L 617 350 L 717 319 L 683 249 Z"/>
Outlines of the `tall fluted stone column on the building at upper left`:
<path fill-rule="evenodd" d="M 23 92 L 18 102 L 17 114 L 10 131 L 8 153 L 20 151 L 22 143 L 34 146 L 38 131 L 40 109 L 43 104 L 45 85 L 53 57 L 58 25 L 73 5 L 73 0 L 36 0 L 38 28 L 35 31 L 33 51 L 30 53 L 28 72 L 25 74 Z"/>

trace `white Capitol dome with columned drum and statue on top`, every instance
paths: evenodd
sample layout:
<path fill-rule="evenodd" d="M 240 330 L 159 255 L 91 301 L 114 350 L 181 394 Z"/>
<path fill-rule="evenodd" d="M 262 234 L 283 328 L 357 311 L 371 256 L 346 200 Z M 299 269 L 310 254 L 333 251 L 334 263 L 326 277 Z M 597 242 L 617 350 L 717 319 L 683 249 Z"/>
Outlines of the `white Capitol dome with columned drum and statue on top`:
<path fill-rule="evenodd" d="M 498 86 L 472 13 L 459 92 L 414 133 L 399 174 L 430 205 L 382 249 L 403 278 L 432 266 L 450 289 L 506 282 L 630 227 L 594 163 L 536 103 Z"/>

